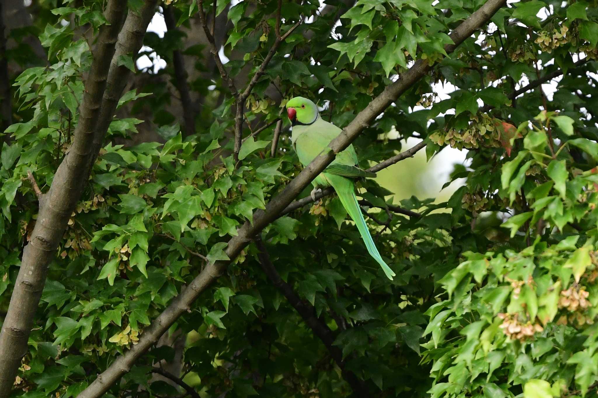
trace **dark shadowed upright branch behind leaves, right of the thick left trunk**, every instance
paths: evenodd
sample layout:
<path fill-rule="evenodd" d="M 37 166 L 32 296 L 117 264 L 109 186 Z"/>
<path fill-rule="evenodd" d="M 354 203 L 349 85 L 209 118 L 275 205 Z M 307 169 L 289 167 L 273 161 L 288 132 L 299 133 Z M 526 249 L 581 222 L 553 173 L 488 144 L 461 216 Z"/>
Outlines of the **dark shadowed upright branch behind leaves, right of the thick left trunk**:
<path fill-rule="evenodd" d="M 164 22 L 169 32 L 176 30 L 175 17 L 172 14 L 172 6 L 164 6 Z M 214 20 L 216 20 L 214 18 Z M 187 70 L 185 61 L 180 50 L 172 51 L 172 64 L 175 69 L 175 87 L 181 94 L 181 105 L 183 107 L 183 119 L 185 121 L 185 135 L 195 133 L 196 107 L 191 100 L 189 84 L 187 82 Z"/>

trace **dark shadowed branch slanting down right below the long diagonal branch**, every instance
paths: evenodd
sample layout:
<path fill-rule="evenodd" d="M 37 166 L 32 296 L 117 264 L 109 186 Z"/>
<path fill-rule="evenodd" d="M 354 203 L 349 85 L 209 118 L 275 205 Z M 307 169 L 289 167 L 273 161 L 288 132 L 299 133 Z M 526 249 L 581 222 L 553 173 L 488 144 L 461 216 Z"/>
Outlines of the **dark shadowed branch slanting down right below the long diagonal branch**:
<path fill-rule="evenodd" d="M 266 246 L 264 246 L 260 234 L 255 236 L 254 241 L 255 245 L 260 250 L 258 257 L 260 258 L 260 266 L 262 270 L 268 279 L 270 279 L 270 282 L 272 282 L 272 284 L 286 297 L 289 304 L 295 308 L 295 311 L 301 315 L 303 321 L 310 329 L 312 329 L 313 334 L 318 336 L 322 343 L 324 343 L 332 356 L 332 359 L 337 364 L 338 368 L 341 369 L 344 380 L 349 383 L 353 389 L 353 394 L 359 397 L 369 396 L 362 381 L 360 381 L 353 372 L 347 371 L 341 350 L 335 345 L 332 345 L 334 344 L 335 337 L 330 328 L 316 317 L 315 308 L 303 303 L 293 290 L 292 286 L 282 280 L 279 273 L 276 271 L 276 267 L 274 267 L 274 264 L 272 264 L 272 261 L 270 260 L 270 255 L 267 252 Z"/>

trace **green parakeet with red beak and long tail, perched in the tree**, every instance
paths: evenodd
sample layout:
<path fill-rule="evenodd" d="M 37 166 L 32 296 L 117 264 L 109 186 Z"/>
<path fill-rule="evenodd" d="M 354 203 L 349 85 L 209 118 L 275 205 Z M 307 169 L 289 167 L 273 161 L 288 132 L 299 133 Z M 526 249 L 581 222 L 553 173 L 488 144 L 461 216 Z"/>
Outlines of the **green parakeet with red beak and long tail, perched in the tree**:
<path fill-rule="evenodd" d="M 286 113 L 292 123 L 292 146 L 303 166 L 308 165 L 342 131 L 322 119 L 316 104 L 307 98 L 292 98 L 286 103 Z M 357 163 L 355 149 L 353 145 L 349 145 L 347 149 L 338 153 L 334 161 L 312 181 L 315 187 L 312 191 L 312 198 L 315 199 L 315 192 L 321 190 L 321 187 L 331 186 L 334 188 L 344 208 L 355 221 L 371 257 L 380 264 L 388 279 L 392 280 L 395 273 L 382 260 L 376 245 L 374 245 L 374 240 L 361 214 L 353 184 L 355 178 L 376 177 L 376 174 L 359 168 Z"/>

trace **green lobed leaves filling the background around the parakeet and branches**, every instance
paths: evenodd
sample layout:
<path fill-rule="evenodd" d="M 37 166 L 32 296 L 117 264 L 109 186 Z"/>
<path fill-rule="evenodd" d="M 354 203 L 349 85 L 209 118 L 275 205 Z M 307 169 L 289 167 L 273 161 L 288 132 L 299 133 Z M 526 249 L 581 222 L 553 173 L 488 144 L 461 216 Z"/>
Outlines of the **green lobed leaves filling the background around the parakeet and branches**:
<path fill-rule="evenodd" d="M 252 244 L 108 396 L 178 396 L 152 373 L 160 361 L 202 397 L 349 396 L 347 372 L 384 397 L 595 395 L 598 76 L 588 72 L 598 4 L 515 2 L 447 57 L 447 33 L 481 4 L 329 1 L 318 12 L 318 2 L 284 2 L 282 33 L 310 23 L 282 42 L 246 98 L 244 137 L 268 127 L 244 141 L 239 163 L 234 94 L 209 54 L 198 5 L 161 5 L 175 24 L 144 44 L 166 67 L 136 70 L 144 52 L 119 60 L 137 73 L 51 263 L 13 396 L 77 396 L 206 260 L 228 258 L 237 227 L 300 171 L 286 120 L 270 154 L 286 100 L 319 101 L 322 116 L 344 127 L 417 59 L 438 65 L 355 141 L 361 166 L 401 150 L 387 137 L 395 128 L 425 140 L 428 159 L 451 146 L 468 149 L 469 161 L 455 166 L 451 177 L 465 184 L 447 202 L 401 201 L 419 217 L 396 212 L 392 192 L 363 181 L 395 280 L 364 254 L 334 196 L 263 232 L 277 273 L 329 329 L 341 361 L 269 280 Z M 214 5 L 216 45 L 245 87 L 276 40 L 277 2 L 217 0 L 204 6 L 209 25 Z M 105 18 L 99 1 L 3 7 L 13 90 L 0 163 L 5 313 L 38 211 L 28 172 L 47 190 L 69 150 Z M 11 26 L 23 10 L 32 17 Z M 552 98 L 541 85 L 514 97 L 558 70 Z M 455 88 L 443 100 L 441 83 Z"/>

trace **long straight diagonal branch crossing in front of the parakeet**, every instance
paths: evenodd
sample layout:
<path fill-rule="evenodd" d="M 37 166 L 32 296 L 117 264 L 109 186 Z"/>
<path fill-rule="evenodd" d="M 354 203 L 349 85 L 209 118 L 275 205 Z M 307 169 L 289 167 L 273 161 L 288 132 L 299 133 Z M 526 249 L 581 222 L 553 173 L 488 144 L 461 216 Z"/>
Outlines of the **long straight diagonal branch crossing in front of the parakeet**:
<path fill-rule="evenodd" d="M 506 0 L 488 0 L 480 9 L 471 14 L 463 23 L 451 34 L 453 45 L 447 45 L 445 50 L 451 53 L 465 39 L 469 38 L 480 26 L 486 23 L 496 11 L 505 5 Z M 200 7 L 202 10 L 202 7 Z M 200 11 L 202 13 L 203 11 Z M 380 113 L 384 112 L 386 107 L 395 101 L 403 92 L 407 91 L 420 78 L 426 75 L 431 69 L 428 61 L 417 61 L 401 79 L 385 88 L 378 97 L 374 98 L 364 110 L 359 112 L 355 119 L 331 141 L 328 149 L 317 156 L 300 174 L 297 175 L 285 189 L 270 200 L 265 210 L 258 210 L 253 217 L 253 223 L 245 223 L 238 231 L 238 235 L 228 241 L 226 254 L 230 259 L 234 259 L 251 242 L 252 237 L 257 235 L 264 227 L 280 217 L 286 206 L 303 191 L 307 184 L 313 178 L 324 170 L 329 163 L 334 160 L 335 153 L 340 152 L 352 143 L 353 140 L 376 119 Z M 105 393 L 109 386 L 116 382 L 123 374 L 129 371 L 135 361 L 141 357 L 149 348 L 160 338 L 162 334 L 181 316 L 182 313 L 191 307 L 191 304 L 199 295 L 205 291 L 212 283 L 224 273 L 226 267 L 232 260 L 216 261 L 209 263 L 200 272 L 193 281 L 186 286 L 168 307 L 158 315 L 139 338 L 139 343 L 133 345 L 124 355 L 118 357 L 110 366 L 86 388 L 78 398 L 99 397 Z"/>

